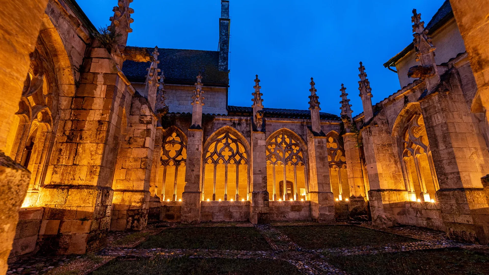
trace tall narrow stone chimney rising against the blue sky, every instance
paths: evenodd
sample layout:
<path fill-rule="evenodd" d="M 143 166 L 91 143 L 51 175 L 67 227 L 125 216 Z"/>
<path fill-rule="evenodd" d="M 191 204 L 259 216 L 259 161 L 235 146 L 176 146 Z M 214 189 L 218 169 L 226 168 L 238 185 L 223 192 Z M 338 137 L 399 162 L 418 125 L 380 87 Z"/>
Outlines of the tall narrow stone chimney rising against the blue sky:
<path fill-rule="evenodd" d="M 219 19 L 219 70 L 229 71 L 229 1 L 221 0 L 221 18 Z"/>

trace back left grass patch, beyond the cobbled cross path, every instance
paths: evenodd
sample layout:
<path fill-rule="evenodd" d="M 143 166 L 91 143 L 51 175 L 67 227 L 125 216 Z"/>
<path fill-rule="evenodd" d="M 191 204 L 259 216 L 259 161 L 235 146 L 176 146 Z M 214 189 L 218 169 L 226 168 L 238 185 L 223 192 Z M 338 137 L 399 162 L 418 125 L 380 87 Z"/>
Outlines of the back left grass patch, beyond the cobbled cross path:
<path fill-rule="evenodd" d="M 149 237 L 141 248 L 269 250 L 267 241 L 254 228 L 170 228 Z"/>

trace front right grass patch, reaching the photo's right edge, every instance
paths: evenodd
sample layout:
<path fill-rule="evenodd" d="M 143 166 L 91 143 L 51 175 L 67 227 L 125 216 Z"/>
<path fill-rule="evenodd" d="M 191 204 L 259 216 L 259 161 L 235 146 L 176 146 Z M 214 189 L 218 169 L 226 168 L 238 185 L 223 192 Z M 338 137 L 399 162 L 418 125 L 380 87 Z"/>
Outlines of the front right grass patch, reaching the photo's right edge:
<path fill-rule="evenodd" d="M 327 261 L 351 275 L 489 275 L 489 255 L 462 250 L 330 256 Z"/>

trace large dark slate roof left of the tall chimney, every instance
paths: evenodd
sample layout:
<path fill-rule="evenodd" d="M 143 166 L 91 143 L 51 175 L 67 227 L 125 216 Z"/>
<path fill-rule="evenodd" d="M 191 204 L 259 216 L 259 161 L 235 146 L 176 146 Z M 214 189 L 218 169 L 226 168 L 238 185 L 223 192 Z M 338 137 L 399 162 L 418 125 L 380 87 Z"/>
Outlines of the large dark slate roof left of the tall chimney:
<path fill-rule="evenodd" d="M 153 52 L 155 48 L 146 48 Z M 229 75 L 219 71 L 219 51 L 192 49 L 158 49 L 158 68 L 165 74 L 165 83 L 194 85 L 199 72 L 202 83 L 208 86 L 228 87 Z M 122 71 L 131 82 L 145 82 L 150 62 L 124 61 Z"/>

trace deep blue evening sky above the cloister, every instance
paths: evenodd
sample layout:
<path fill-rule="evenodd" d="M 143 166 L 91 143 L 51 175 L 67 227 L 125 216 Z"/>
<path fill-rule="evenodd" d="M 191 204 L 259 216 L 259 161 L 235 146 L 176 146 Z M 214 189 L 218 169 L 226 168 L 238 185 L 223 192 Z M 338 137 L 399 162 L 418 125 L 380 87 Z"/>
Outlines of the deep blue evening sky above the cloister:
<path fill-rule="evenodd" d="M 77 0 L 96 26 L 117 0 Z M 229 105 L 251 106 L 255 74 L 264 106 L 307 110 L 311 76 L 322 112 L 339 115 L 341 83 L 362 112 L 358 62 L 373 103 L 400 89 L 382 65 L 412 42 L 412 9 L 427 24 L 444 0 L 230 0 Z M 128 45 L 217 50 L 220 0 L 134 0 Z M 436 46 L 436 45 L 435 45 Z"/>

